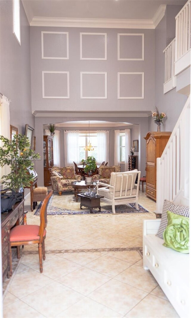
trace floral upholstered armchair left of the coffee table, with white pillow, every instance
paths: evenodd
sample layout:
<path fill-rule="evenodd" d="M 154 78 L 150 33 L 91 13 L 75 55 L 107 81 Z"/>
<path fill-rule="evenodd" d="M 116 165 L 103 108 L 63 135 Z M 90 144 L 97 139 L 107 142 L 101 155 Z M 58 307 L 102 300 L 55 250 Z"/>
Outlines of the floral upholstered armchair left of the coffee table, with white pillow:
<path fill-rule="evenodd" d="M 82 177 L 74 174 L 73 167 L 53 167 L 51 169 L 52 189 L 62 195 L 64 191 L 73 191 L 72 183 L 81 181 Z"/>

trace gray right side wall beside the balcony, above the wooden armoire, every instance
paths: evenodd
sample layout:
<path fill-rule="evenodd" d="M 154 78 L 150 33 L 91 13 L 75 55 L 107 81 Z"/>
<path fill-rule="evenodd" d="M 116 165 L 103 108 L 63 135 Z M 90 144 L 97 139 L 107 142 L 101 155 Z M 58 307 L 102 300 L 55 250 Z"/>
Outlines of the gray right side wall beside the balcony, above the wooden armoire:
<path fill-rule="evenodd" d="M 164 126 L 161 126 L 161 131 L 173 130 L 187 100 L 187 96 L 177 93 L 176 88 L 166 94 L 163 93 L 163 83 L 165 79 L 165 54 L 163 50 L 168 43 L 167 37 L 169 38 L 169 34 L 171 34 L 172 37 L 175 36 L 175 24 L 170 24 L 170 21 L 173 21 L 175 18 L 178 13 L 177 10 L 180 11 L 180 6 L 178 6 L 177 10 L 172 10 L 171 7 L 176 6 L 167 5 L 165 16 L 155 29 L 155 105 L 158 107 L 159 112 L 165 112 L 167 116 L 164 120 Z M 170 18 L 170 14 L 172 14 L 173 18 L 172 16 Z M 168 32 L 167 17 L 170 19 L 170 21 L 168 21 Z M 172 28 L 170 28 L 170 25 Z M 154 110 L 154 105 L 151 110 Z M 157 125 L 154 123 L 152 117 L 149 117 L 149 131 L 157 131 Z"/>

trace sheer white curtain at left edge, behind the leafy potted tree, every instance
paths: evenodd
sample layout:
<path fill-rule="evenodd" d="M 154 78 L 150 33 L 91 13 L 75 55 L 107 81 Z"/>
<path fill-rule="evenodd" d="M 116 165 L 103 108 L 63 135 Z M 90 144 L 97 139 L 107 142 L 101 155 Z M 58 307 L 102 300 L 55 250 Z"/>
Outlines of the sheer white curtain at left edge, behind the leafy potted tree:
<path fill-rule="evenodd" d="M 10 139 L 10 110 L 9 100 L 4 95 L 0 97 L 0 135 Z M 0 142 L 0 146 L 3 146 L 3 142 Z M 10 167 L 5 165 L 0 167 L 0 179 L 2 176 L 6 176 L 11 172 Z"/>

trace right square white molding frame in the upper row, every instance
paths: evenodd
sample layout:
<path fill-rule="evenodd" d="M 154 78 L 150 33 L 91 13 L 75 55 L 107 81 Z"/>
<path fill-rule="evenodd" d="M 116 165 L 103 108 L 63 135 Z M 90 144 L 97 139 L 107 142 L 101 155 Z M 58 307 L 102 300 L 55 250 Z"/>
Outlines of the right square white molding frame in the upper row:
<path fill-rule="evenodd" d="M 118 61 L 144 60 L 144 33 L 117 34 Z"/>

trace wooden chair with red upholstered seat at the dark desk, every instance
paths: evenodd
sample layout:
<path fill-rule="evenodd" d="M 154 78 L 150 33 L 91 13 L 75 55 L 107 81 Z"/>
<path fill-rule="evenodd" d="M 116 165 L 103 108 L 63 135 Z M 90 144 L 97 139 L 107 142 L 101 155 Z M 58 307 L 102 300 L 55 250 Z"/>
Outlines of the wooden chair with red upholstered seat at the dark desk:
<path fill-rule="evenodd" d="M 38 244 L 39 245 L 39 261 L 40 273 L 42 273 L 42 256 L 45 260 L 45 245 L 46 226 L 47 226 L 47 205 L 49 198 L 52 196 L 53 190 L 50 190 L 48 195 L 42 202 L 40 209 L 40 226 L 39 225 L 17 225 L 10 231 L 10 276 L 12 275 L 12 255 L 11 246 L 17 246 L 17 257 L 20 258 L 20 245 Z"/>

